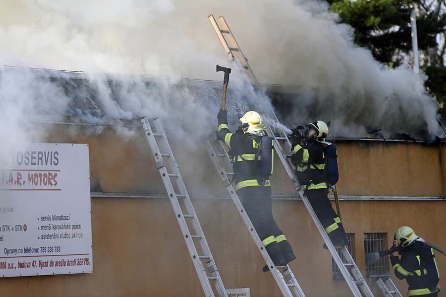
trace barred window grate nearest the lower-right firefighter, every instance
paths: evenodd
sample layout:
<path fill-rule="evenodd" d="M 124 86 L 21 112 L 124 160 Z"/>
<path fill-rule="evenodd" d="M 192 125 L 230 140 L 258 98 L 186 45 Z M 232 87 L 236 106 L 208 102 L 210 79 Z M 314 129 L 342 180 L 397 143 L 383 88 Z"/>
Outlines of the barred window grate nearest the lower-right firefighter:
<path fill-rule="evenodd" d="M 379 257 L 379 252 L 385 249 L 388 249 L 387 233 L 364 233 L 364 254 L 368 277 L 390 275 L 388 257 Z"/>

